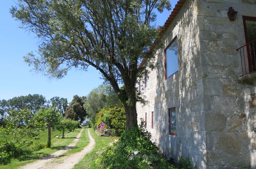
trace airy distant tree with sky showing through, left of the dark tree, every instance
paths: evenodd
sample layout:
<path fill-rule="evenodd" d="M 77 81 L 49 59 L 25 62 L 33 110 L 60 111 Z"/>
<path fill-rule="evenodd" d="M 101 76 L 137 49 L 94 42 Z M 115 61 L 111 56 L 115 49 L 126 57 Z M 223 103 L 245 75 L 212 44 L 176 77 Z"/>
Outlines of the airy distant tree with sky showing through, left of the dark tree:
<path fill-rule="evenodd" d="M 66 108 L 68 107 L 68 99 L 60 97 L 52 97 L 50 99 L 51 106 L 55 111 L 61 112 L 62 116 L 65 116 Z"/>

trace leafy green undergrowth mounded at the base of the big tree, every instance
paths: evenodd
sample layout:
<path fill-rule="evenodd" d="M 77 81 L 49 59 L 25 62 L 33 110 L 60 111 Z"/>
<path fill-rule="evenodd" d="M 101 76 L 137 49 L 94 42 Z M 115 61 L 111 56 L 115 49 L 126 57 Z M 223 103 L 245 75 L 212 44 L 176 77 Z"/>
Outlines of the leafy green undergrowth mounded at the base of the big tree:
<path fill-rule="evenodd" d="M 103 151 L 97 162 L 103 168 L 168 168 L 150 138 L 145 129 L 134 127 L 126 130 L 119 141 Z"/>

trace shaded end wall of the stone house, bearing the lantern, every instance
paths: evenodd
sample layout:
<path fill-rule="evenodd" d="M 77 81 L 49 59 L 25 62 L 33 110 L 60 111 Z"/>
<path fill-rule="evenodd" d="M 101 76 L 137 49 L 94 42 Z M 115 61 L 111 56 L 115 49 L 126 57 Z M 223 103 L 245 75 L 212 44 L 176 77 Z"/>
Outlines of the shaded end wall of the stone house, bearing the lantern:
<path fill-rule="evenodd" d="M 198 23 L 203 65 L 206 167 L 256 167 L 248 128 L 253 123 L 249 106 L 255 83 L 239 83 L 240 55 L 245 45 L 242 15 L 256 17 L 255 1 L 200 0 Z M 227 11 L 238 11 L 229 21 Z M 253 134 L 252 134 L 253 135 Z M 251 138 L 250 138 L 251 137 Z M 254 151 L 254 152 L 253 152 Z"/>

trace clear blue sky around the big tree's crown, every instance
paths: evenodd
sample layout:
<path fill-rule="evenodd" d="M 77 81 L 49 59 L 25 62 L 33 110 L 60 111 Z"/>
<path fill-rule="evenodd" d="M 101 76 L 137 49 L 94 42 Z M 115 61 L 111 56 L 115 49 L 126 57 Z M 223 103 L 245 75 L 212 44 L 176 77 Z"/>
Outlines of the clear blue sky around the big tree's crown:
<path fill-rule="evenodd" d="M 178 0 L 171 1 L 172 7 Z M 9 9 L 16 1 L 0 1 L 0 100 L 15 96 L 41 94 L 50 99 L 54 96 L 67 98 L 86 96 L 103 82 L 99 71 L 71 70 L 62 79 L 49 79 L 42 73 L 31 71 L 24 62 L 27 53 L 36 53 L 39 40 L 32 32 L 19 28 L 21 22 L 12 18 Z M 157 26 L 163 26 L 170 11 L 157 15 Z"/>

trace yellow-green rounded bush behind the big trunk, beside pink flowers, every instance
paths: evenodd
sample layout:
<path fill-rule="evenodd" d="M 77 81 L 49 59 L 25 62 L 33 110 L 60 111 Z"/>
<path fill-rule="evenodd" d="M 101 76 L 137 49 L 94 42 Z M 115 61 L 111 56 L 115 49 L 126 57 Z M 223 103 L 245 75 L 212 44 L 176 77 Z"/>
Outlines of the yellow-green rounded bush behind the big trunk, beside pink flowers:
<path fill-rule="evenodd" d="M 104 122 L 112 129 L 112 135 L 120 136 L 125 131 L 125 110 L 124 108 L 103 108 L 95 116 L 95 125 L 100 126 Z"/>

